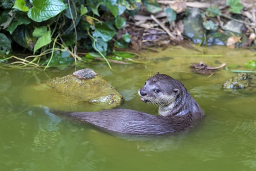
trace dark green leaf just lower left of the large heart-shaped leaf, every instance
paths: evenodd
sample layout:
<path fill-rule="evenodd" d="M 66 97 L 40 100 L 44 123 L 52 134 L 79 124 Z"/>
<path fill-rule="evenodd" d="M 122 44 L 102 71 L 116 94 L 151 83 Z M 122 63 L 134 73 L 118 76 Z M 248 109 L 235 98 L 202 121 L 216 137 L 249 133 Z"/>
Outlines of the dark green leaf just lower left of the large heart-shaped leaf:
<path fill-rule="evenodd" d="M 9 25 L 8 28 L 6 28 L 7 31 L 12 35 L 14 30 L 17 28 L 18 25 L 21 24 L 29 24 L 31 20 L 27 17 L 26 13 L 17 11 L 15 13 L 15 21 L 12 21 L 12 23 Z"/>

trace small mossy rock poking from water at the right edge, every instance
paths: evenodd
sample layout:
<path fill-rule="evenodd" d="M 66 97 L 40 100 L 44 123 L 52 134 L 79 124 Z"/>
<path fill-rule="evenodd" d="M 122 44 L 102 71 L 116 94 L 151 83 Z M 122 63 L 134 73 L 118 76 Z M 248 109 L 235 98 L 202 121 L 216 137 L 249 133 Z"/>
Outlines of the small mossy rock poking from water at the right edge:
<path fill-rule="evenodd" d="M 230 91 L 239 88 L 251 88 L 256 87 L 256 74 L 238 73 L 236 76 L 227 80 L 223 87 Z"/>

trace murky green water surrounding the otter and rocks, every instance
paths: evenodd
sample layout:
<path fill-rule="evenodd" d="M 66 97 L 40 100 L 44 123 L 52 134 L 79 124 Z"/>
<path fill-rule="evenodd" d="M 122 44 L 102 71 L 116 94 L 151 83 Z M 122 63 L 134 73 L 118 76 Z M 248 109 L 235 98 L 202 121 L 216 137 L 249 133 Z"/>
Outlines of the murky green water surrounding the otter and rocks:
<path fill-rule="evenodd" d="M 200 61 L 213 66 L 243 65 L 256 60 L 254 53 L 210 47 L 207 54 L 223 57 L 184 57 L 202 53 L 171 47 L 142 54 L 147 64 L 113 64 L 114 71 L 106 64 L 85 64 L 78 69 L 90 67 L 113 85 L 124 96 L 121 108 L 153 114 L 157 107 L 142 103 L 138 89 L 158 71 L 171 75 L 186 85 L 204 110 L 206 117 L 200 125 L 175 135 L 116 137 L 35 107 L 50 97 L 39 97 L 35 103 L 24 99 L 25 86 L 70 74 L 74 68 L 0 69 L 0 171 L 256 171 L 256 91 L 223 91 L 221 85 L 233 73 L 220 69 L 208 78 L 192 73 L 189 67 Z M 65 108 L 74 109 L 72 104 Z"/>

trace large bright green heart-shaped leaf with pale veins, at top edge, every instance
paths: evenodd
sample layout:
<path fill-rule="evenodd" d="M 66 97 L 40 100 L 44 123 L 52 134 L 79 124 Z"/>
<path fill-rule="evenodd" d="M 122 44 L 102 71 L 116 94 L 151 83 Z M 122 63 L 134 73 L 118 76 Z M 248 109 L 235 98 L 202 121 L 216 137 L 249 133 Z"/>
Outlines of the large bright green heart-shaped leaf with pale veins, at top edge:
<path fill-rule="evenodd" d="M 28 10 L 28 17 L 36 22 L 55 17 L 67 8 L 61 0 L 30 0 L 30 3 L 33 7 Z"/>

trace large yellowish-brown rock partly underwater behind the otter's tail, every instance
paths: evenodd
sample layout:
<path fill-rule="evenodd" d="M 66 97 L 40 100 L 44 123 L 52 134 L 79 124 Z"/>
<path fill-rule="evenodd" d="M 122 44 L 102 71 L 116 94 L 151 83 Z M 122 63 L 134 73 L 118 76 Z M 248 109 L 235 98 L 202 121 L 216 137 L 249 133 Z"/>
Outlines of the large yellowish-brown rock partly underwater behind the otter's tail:
<path fill-rule="evenodd" d="M 108 109 L 121 105 L 122 96 L 92 69 L 82 69 L 64 77 L 32 85 L 26 100 L 54 109 Z M 27 90 L 25 90 L 27 91 Z M 91 109 L 93 108 L 93 109 Z"/>

